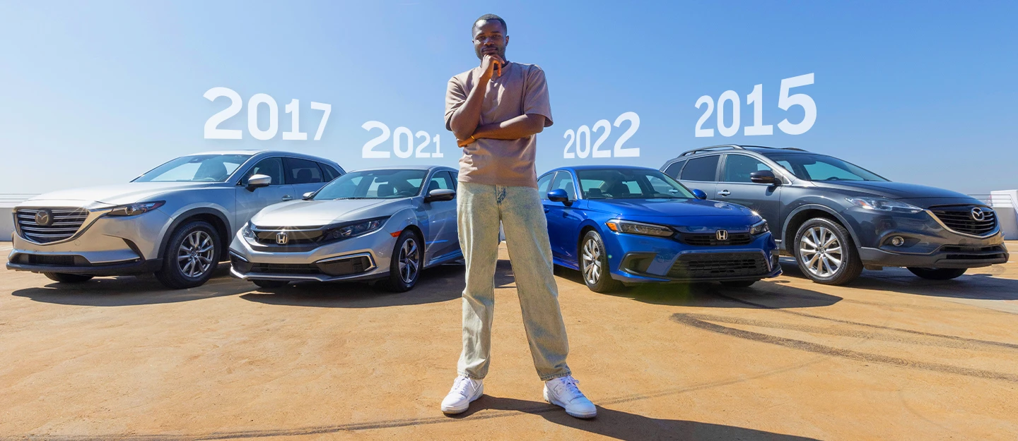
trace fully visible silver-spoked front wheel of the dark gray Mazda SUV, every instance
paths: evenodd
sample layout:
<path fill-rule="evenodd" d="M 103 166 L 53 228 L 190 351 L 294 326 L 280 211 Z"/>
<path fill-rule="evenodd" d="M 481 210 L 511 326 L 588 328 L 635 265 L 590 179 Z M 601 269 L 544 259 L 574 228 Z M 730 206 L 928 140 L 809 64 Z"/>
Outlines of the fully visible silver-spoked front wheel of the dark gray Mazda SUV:
<path fill-rule="evenodd" d="M 822 242 L 813 244 L 814 241 Z M 793 243 L 802 273 L 817 284 L 845 285 L 862 273 L 852 236 L 840 224 L 813 217 L 799 227 Z"/>

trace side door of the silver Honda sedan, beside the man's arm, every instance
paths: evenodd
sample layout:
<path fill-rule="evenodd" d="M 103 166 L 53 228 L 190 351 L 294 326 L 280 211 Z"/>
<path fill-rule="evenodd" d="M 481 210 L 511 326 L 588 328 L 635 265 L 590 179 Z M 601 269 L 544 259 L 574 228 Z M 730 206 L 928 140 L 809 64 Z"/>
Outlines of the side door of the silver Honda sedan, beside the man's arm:
<path fill-rule="evenodd" d="M 454 190 L 452 175 L 441 170 L 432 175 L 425 187 L 422 196 L 428 196 L 432 190 Z M 428 237 L 425 238 L 425 262 L 431 264 L 439 259 L 459 251 L 459 236 L 456 226 L 456 199 L 437 200 L 425 203 L 428 212 Z"/>

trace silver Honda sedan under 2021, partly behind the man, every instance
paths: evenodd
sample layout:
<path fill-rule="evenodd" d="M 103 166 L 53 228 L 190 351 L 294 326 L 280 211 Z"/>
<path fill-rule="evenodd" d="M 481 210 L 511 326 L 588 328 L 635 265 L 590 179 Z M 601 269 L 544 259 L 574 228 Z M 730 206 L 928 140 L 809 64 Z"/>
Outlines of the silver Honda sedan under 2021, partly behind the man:
<path fill-rule="evenodd" d="M 230 244 L 231 273 L 263 288 L 375 279 L 410 290 L 421 269 L 463 255 L 455 185 L 448 167 L 347 173 L 251 217 Z"/>

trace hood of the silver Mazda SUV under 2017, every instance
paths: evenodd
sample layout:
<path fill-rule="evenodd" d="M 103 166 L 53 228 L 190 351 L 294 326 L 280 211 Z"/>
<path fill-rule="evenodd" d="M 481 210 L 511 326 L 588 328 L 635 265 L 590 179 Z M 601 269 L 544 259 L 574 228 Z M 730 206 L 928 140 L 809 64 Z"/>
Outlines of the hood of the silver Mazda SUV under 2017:
<path fill-rule="evenodd" d="M 152 198 L 168 191 L 193 190 L 222 183 L 208 182 L 128 182 L 124 184 L 84 187 L 69 190 L 53 191 L 35 196 L 21 204 L 46 201 L 77 201 L 80 205 L 93 202 L 101 204 L 121 205 L 125 203 L 148 202 Z"/>

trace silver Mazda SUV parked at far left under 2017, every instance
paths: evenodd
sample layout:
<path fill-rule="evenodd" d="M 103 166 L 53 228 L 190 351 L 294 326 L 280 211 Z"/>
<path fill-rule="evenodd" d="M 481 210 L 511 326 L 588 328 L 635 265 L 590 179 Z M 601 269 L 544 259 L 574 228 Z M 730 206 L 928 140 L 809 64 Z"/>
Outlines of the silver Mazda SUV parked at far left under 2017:
<path fill-rule="evenodd" d="M 177 158 L 126 184 L 43 194 L 14 207 L 7 268 L 60 282 L 155 273 L 169 288 L 197 287 L 256 212 L 344 173 L 305 154 L 213 151 Z"/>

